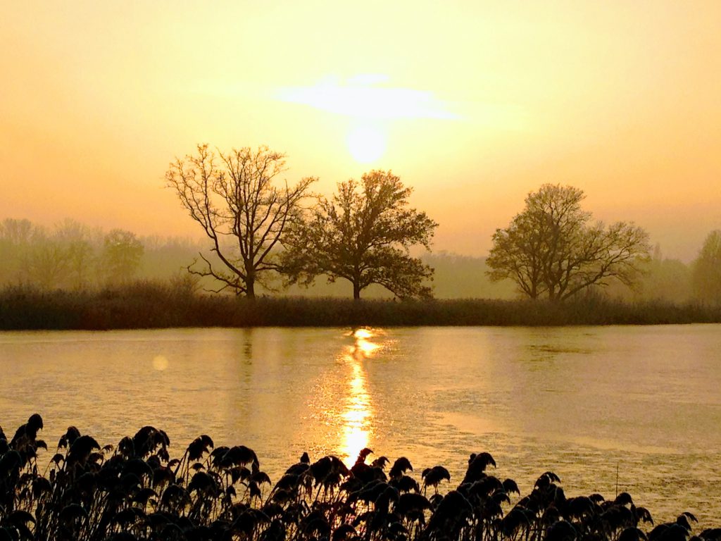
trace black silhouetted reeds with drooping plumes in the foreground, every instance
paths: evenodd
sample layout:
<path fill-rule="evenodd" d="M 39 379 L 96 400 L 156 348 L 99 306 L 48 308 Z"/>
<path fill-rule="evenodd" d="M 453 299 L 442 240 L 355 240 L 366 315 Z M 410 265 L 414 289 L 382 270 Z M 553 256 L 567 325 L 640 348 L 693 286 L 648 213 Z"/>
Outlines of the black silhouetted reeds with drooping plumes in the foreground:
<path fill-rule="evenodd" d="M 369 449 L 350 468 L 303 454 L 274 483 L 252 449 L 213 447 L 206 435 L 172 458 L 151 426 L 105 447 L 71 426 L 48 461 L 38 457 L 48 447 L 41 428 L 35 414 L 12 439 L 0 430 L 0 540 L 721 539 L 688 511 L 654 524 L 629 493 L 566 496 L 553 472 L 522 496 L 492 475 L 487 452 L 469 457 L 455 488 L 441 465 L 417 475 L 404 457 L 368 462 Z M 39 462 L 49 463 L 42 474 Z"/>

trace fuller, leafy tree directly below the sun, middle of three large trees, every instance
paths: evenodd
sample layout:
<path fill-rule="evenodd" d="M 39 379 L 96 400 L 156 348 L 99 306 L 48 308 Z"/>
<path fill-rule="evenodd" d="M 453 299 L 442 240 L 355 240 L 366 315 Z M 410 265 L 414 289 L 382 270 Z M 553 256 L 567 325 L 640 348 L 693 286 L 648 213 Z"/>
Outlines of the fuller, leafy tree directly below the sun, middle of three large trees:
<path fill-rule="evenodd" d="M 391 172 L 371 171 L 361 182 L 339 182 L 329 200 L 319 198 L 307 221 L 294 224 L 283 241 L 283 271 L 290 283 L 309 285 L 320 275 L 353 283 L 353 298 L 378 283 L 399 297 L 428 297 L 423 285 L 433 269 L 410 256 L 428 249 L 438 224 L 408 207 L 412 188 Z"/>

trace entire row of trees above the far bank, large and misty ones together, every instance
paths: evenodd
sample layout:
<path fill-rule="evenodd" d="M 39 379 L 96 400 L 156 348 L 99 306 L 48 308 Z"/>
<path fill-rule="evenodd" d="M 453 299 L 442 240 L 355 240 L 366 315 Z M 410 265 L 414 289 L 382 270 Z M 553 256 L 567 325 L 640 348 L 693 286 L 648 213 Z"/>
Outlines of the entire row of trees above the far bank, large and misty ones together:
<path fill-rule="evenodd" d="M 410 207 L 411 188 L 371 171 L 309 191 L 313 177 L 280 181 L 285 156 L 267 147 L 177 159 L 166 174 L 205 241 L 104 232 L 66 219 L 53 228 L 0 221 L 0 286 L 82 290 L 138 280 L 174 289 L 301 296 L 611 299 L 721 304 L 721 231 L 690 265 L 663 258 L 631 222 L 606 226 L 583 210 L 582 190 L 542 185 L 492 237 L 488 258 L 431 253 L 438 225 Z M 208 243 L 209 240 L 209 243 Z M 412 255 L 412 248 L 425 250 Z M 416 252 L 417 253 L 417 252 Z M 324 277 L 326 280 L 319 280 Z M 340 282 L 338 283 L 340 278 Z M 433 283 L 431 284 L 431 280 Z"/>

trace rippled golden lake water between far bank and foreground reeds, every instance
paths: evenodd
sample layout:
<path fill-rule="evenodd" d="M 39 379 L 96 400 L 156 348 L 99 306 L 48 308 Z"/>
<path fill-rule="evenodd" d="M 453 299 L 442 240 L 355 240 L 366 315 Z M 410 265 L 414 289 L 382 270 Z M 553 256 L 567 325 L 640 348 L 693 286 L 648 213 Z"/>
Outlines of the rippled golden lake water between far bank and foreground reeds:
<path fill-rule="evenodd" d="M 0 424 L 40 413 L 101 445 L 150 424 L 208 434 L 277 480 L 304 451 L 359 449 L 458 483 L 471 452 L 521 493 L 628 491 L 655 521 L 721 526 L 721 325 L 0 333 Z"/>

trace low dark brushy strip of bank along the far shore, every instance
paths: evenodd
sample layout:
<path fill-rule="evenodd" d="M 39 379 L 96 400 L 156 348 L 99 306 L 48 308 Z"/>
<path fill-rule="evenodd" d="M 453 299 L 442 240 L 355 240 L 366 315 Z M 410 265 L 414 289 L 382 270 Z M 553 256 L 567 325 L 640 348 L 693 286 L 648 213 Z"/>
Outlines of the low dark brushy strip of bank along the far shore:
<path fill-rule="evenodd" d="M 99 291 L 0 291 L 0 330 L 162 327 L 658 325 L 721 322 L 721 305 L 488 299 L 392 300 L 198 294 L 140 282 Z"/>

